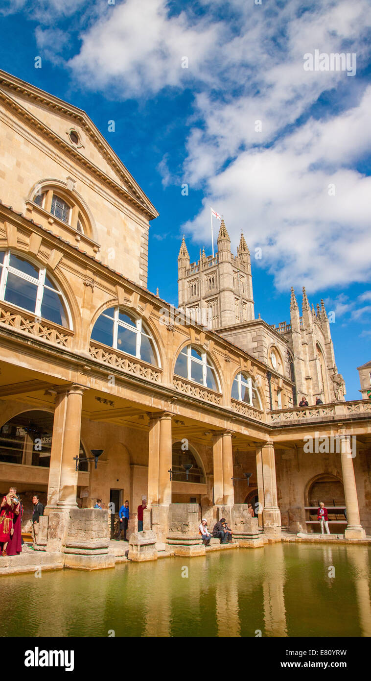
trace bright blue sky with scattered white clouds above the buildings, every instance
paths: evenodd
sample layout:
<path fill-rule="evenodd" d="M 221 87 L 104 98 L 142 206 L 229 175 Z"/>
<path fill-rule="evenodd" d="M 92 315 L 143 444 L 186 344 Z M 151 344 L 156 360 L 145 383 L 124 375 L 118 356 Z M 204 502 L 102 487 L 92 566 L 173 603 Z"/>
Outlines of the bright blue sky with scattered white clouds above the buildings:
<path fill-rule="evenodd" d="M 159 210 L 148 288 L 176 304 L 180 238 L 191 260 L 211 253 L 212 206 L 233 249 L 244 231 L 256 316 L 288 321 L 291 285 L 335 311 L 336 364 L 359 398 L 356 367 L 371 355 L 369 0 L 2 0 L 0 16 L 1 68 L 86 110 Z M 305 71 L 317 49 L 356 54 L 355 76 Z"/>

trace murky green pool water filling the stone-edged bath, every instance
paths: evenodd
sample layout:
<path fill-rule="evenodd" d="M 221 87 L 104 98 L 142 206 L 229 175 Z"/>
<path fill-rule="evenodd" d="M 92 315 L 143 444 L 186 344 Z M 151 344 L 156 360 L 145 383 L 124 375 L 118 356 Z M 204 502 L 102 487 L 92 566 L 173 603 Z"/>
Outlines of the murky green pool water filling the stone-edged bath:
<path fill-rule="evenodd" d="M 0 635 L 370 636 L 370 558 L 365 546 L 275 544 L 0 577 Z"/>

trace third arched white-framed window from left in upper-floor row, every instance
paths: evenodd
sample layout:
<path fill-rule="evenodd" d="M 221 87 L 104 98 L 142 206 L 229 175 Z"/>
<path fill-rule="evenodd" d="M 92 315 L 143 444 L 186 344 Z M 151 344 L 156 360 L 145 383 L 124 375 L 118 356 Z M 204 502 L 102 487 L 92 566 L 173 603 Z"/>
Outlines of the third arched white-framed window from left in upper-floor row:
<path fill-rule="evenodd" d="M 187 345 L 180 351 L 174 373 L 211 390 L 220 390 L 216 371 L 207 353 L 193 345 Z"/>

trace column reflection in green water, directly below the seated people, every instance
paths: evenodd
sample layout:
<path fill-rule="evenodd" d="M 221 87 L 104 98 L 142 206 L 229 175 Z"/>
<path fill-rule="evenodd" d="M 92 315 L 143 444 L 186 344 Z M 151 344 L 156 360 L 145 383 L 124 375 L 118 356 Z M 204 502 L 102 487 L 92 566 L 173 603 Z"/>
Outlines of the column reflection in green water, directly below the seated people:
<path fill-rule="evenodd" d="M 216 582 L 215 601 L 216 601 L 216 625 L 218 636 L 231 637 L 240 636 L 240 618 L 238 616 L 238 588 L 236 575 L 228 581 L 226 577 L 223 582 Z"/>

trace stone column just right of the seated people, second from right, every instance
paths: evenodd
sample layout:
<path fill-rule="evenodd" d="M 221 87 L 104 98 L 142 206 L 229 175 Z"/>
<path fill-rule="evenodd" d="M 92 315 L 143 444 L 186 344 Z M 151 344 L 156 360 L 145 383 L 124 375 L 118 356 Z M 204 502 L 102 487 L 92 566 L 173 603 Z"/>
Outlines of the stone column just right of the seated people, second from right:
<path fill-rule="evenodd" d="M 274 444 L 272 440 L 261 447 L 261 464 L 263 468 L 263 528 L 267 535 L 280 535 L 281 516 L 277 503 L 276 462 L 274 460 Z"/>

